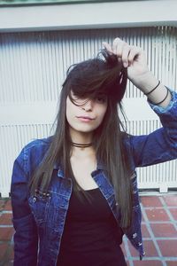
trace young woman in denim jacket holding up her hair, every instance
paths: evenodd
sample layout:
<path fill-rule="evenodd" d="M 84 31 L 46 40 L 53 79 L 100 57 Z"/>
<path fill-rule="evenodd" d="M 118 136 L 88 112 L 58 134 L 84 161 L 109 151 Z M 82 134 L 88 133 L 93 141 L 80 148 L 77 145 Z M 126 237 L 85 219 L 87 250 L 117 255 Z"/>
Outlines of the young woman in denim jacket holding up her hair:
<path fill-rule="evenodd" d="M 163 127 L 130 136 L 119 120 L 127 78 Z M 119 108 L 118 108 L 119 107 Z M 123 266 L 125 233 L 144 255 L 135 168 L 177 158 L 177 94 L 151 74 L 141 49 L 116 38 L 69 68 L 55 134 L 14 162 L 14 265 Z"/>

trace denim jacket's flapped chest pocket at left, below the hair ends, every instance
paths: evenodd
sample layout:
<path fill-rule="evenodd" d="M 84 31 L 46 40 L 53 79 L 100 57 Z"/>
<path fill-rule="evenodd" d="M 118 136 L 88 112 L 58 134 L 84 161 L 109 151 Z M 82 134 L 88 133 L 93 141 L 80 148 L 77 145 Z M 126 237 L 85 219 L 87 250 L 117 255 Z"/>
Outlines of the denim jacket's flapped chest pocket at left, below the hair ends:
<path fill-rule="evenodd" d="M 28 202 L 35 217 L 35 222 L 39 226 L 42 226 L 47 219 L 47 212 L 50 205 L 50 193 L 36 191 L 35 196 L 29 197 Z"/>

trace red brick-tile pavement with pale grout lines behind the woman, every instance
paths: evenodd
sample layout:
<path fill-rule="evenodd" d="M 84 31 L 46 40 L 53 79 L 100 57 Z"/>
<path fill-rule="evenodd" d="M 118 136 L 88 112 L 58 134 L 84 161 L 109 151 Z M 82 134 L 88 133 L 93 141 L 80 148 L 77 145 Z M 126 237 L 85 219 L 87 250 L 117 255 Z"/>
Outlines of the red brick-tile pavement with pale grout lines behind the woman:
<path fill-rule="evenodd" d="M 124 237 L 128 266 L 177 266 L 177 193 L 141 196 L 143 261 Z M 0 200 L 0 265 L 13 262 L 13 227 L 10 199 Z M 91 266 L 91 265 L 90 265 Z"/>

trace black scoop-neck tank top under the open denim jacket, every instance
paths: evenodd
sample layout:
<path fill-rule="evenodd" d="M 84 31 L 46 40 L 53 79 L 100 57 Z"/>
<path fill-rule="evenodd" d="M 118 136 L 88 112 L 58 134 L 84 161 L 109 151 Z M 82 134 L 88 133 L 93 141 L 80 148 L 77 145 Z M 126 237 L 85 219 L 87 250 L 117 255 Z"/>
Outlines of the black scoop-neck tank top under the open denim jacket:
<path fill-rule="evenodd" d="M 99 188 L 91 202 L 72 192 L 58 255 L 58 266 L 124 266 L 122 231 Z"/>

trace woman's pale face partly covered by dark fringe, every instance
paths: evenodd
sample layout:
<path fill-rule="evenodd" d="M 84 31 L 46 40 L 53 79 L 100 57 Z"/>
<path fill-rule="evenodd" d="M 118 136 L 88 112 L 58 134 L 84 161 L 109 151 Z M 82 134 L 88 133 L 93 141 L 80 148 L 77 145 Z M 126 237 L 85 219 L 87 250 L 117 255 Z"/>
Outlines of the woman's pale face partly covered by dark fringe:
<path fill-rule="evenodd" d="M 104 119 L 104 114 L 107 109 L 107 98 L 97 97 L 94 99 L 77 98 L 73 95 L 72 98 L 76 106 L 70 100 L 66 99 L 66 119 L 70 128 L 75 131 L 89 133 L 97 129 Z"/>

